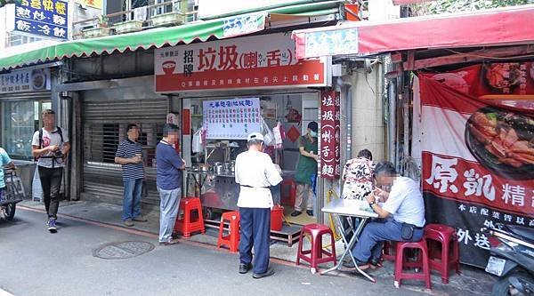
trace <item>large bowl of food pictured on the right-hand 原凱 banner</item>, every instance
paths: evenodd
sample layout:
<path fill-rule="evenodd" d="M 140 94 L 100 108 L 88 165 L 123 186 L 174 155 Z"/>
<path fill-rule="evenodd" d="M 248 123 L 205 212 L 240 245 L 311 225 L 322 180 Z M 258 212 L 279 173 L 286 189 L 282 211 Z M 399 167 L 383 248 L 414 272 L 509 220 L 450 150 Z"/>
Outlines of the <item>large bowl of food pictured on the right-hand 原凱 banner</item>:
<path fill-rule="evenodd" d="M 534 179 L 534 118 L 485 107 L 467 120 L 465 144 L 487 169 L 514 180 Z"/>

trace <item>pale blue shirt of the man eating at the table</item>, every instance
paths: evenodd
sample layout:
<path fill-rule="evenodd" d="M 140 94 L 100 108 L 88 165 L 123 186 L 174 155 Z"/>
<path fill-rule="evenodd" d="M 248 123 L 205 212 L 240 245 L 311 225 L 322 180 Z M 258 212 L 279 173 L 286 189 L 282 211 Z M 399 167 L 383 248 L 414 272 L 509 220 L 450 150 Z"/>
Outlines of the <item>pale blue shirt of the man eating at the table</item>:
<path fill-rule="evenodd" d="M 425 202 L 415 180 L 397 177 L 383 209 L 396 221 L 425 226 Z"/>

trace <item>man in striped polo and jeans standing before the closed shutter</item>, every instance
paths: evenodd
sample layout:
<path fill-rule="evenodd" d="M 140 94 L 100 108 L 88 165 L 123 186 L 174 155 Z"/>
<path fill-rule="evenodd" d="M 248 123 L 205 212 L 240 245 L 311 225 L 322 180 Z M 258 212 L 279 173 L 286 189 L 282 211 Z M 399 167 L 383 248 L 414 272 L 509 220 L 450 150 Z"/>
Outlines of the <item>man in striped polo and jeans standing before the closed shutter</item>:
<path fill-rule="evenodd" d="M 139 139 L 139 127 L 137 124 L 128 124 L 126 132 L 128 138 L 118 144 L 115 163 L 122 165 L 125 186 L 122 220 L 125 226 L 133 227 L 134 221 L 147 221 L 141 214 L 144 167 L 142 164 L 142 146 L 137 142 Z"/>

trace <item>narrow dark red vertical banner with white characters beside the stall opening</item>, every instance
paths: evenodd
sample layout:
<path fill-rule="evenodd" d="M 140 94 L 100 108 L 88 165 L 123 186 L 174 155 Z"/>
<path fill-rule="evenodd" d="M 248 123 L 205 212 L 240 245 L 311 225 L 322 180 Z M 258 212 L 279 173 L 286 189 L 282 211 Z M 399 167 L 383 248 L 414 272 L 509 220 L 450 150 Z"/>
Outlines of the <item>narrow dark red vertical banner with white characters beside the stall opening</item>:
<path fill-rule="evenodd" d="M 323 91 L 320 100 L 320 176 L 339 178 L 340 167 L 340 105 L 339 92 Z"/>

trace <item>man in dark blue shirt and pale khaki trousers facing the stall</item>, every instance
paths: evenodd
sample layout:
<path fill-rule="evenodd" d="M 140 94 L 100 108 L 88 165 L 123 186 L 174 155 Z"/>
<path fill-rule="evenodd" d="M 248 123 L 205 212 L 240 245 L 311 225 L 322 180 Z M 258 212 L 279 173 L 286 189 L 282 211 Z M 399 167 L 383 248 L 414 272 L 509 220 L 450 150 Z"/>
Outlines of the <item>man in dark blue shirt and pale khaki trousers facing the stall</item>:
<path fill-rule="evenodd" d="M 156 147 L 156 182 L 160 197 L 159 244 L 178 243 L 172 235 L 182 197 L 182 170 L 185 168 L 185 162 L 173 148 L 178 137 L 178 126 L 166 124 L 163 139 Z"/>

